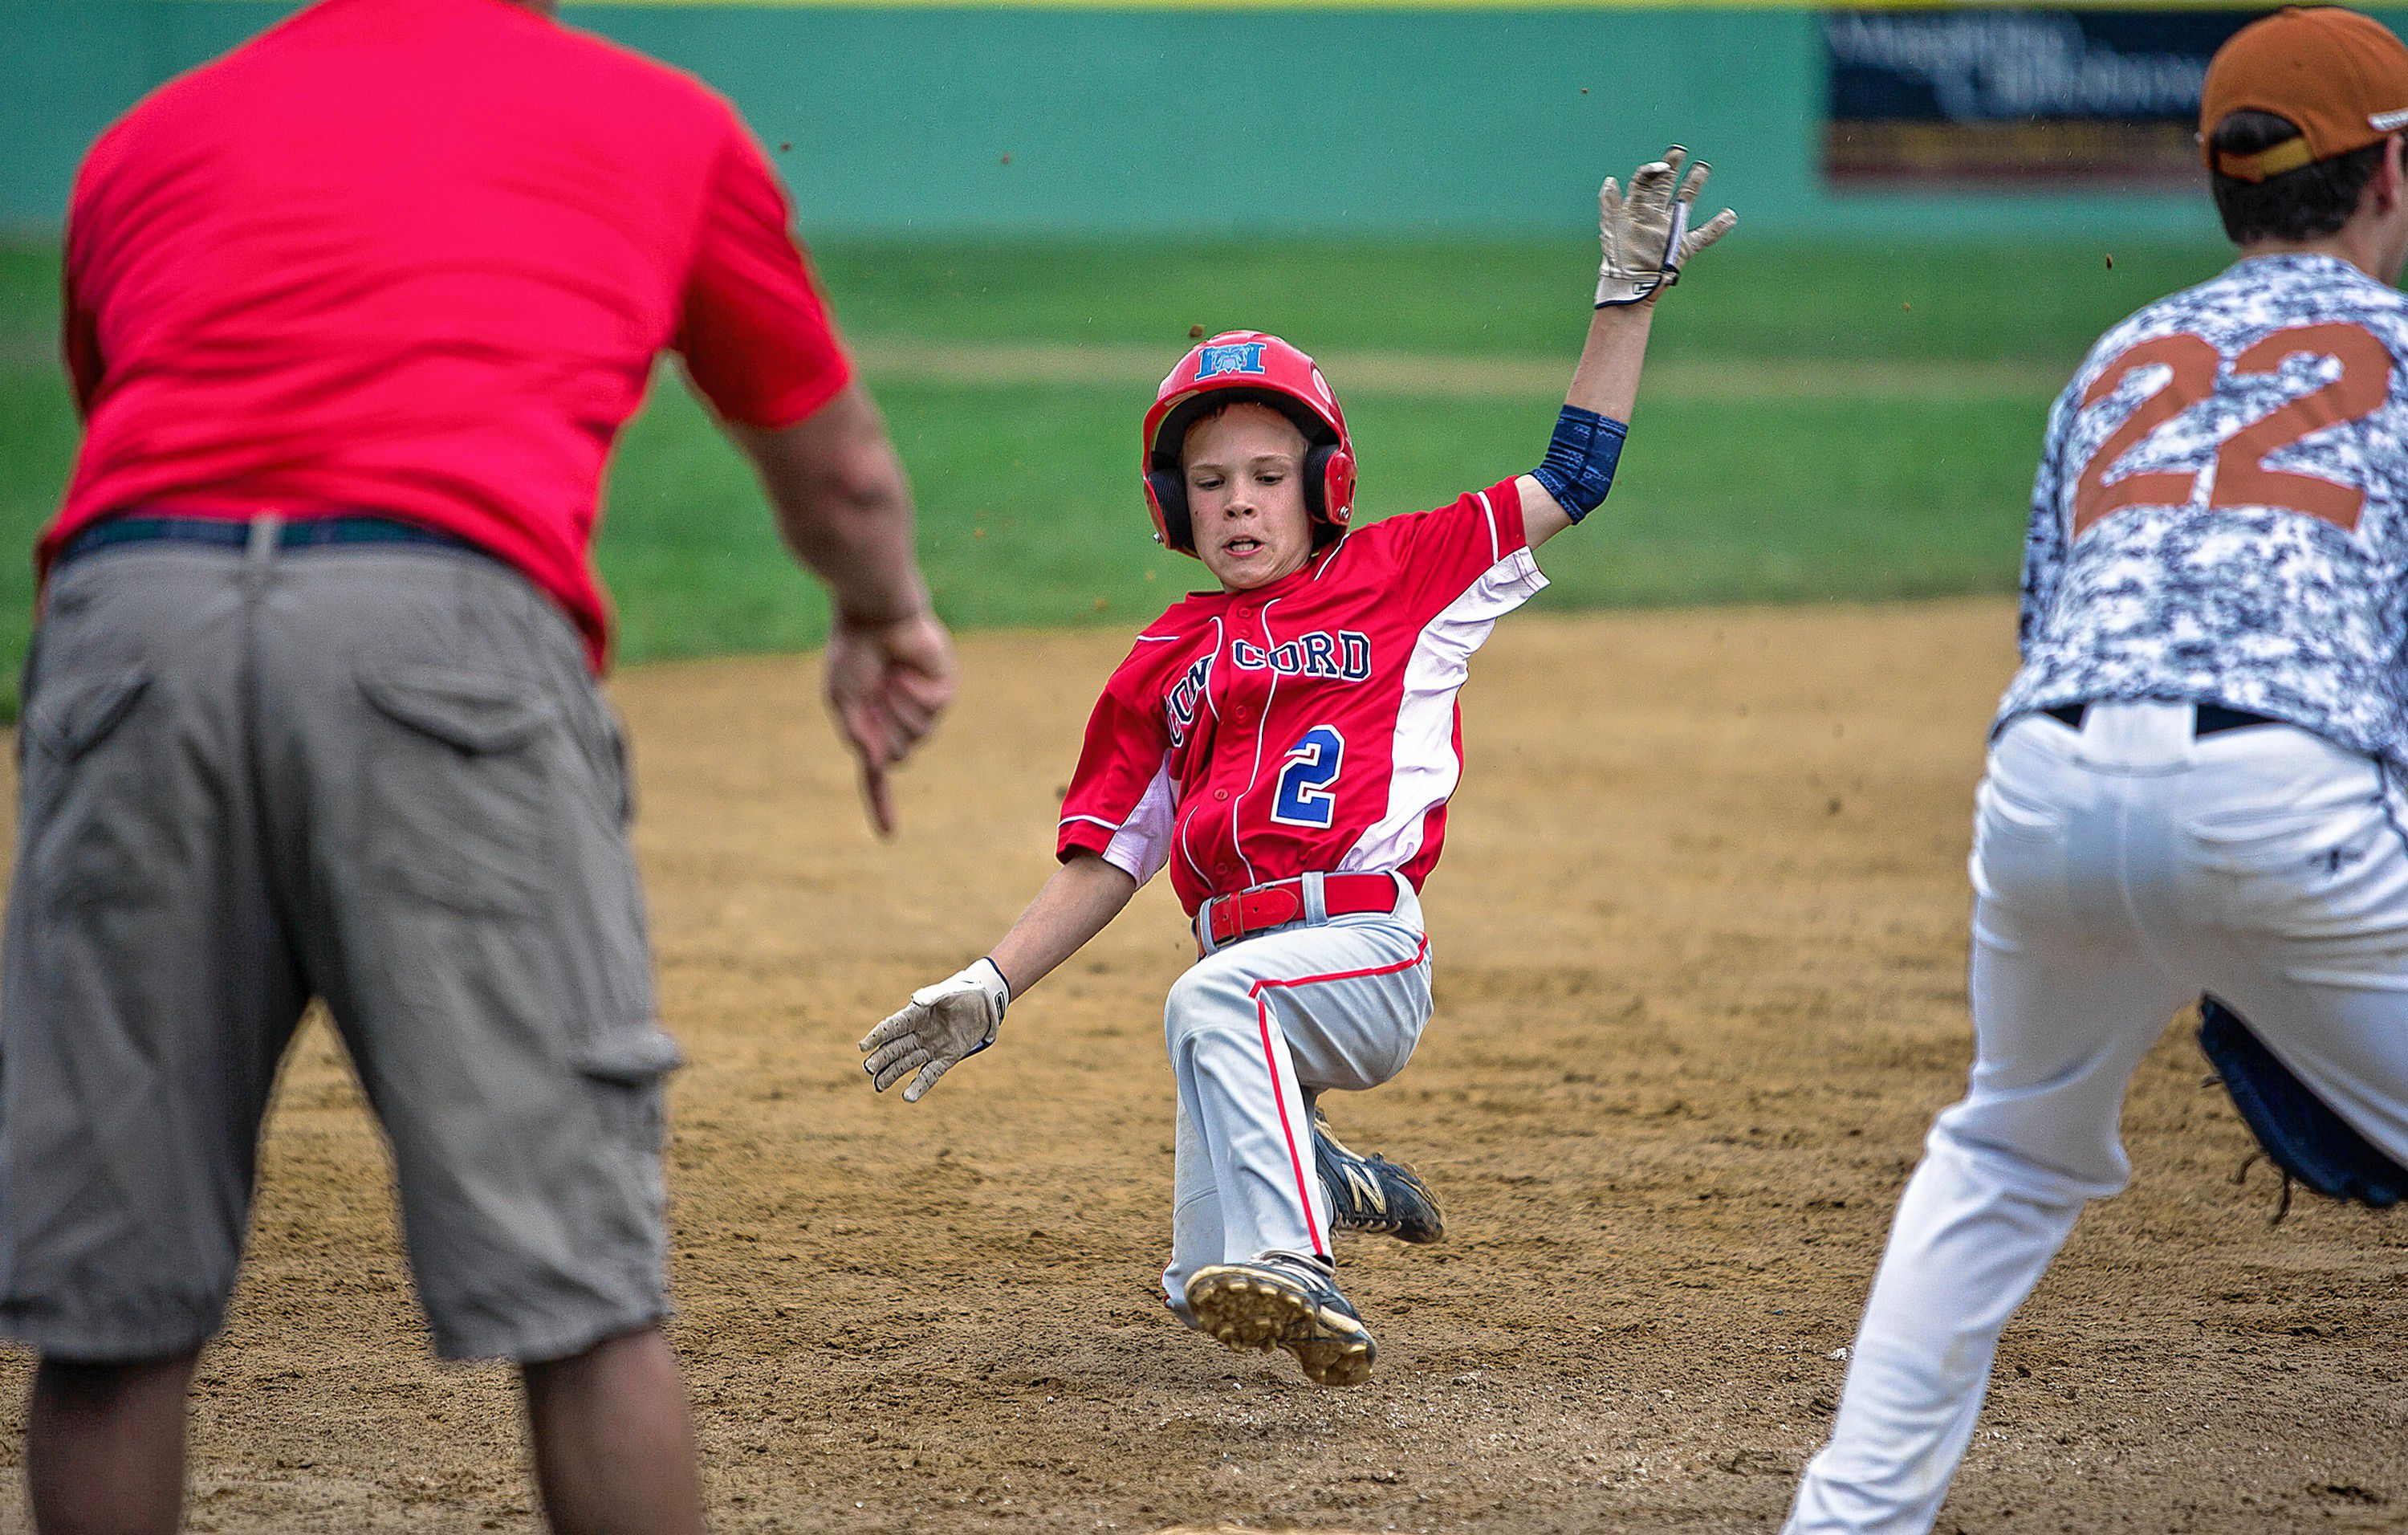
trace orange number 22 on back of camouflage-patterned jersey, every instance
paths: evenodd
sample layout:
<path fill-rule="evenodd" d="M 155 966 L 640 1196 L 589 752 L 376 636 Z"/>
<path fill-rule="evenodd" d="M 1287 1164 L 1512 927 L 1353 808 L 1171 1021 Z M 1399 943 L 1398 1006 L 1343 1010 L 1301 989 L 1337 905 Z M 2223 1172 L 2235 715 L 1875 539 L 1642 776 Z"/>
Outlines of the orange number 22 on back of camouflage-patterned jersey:
<path fill-rule="evenodd" d="M 2312 431 L 2341 427 L 2372 414 L 2391 393 L 2391 352 L 2365 325 L 2292 325 L 2261 337 L 2232 359 L 2235 374 L 2273 374 L 2290 357 L 2331 357 L 2341 364 L 2341 376 L 2331 383 L 2285 400 L 2268 414 L 2242 427 L 2215 451 L 2215 487 L 2208 492 L 2208 508 L 2218 506 L 2280 506 L 2302 516 L 2321 518 L 2343 530 L 2357 528 L 2365 492 L 2302 475 L 2297 470 L 2268 470 L 2266 458 L 2288 448 Z M 2100 518 L 2126 506 L 2186 506 L 2199 484 L 2194 470 L 2148 470 L 2107 480 L 2126 453 L 2158 427 L 2165 427 L 2184 410 L 2215 393 L 2215 376 L 2223 369 L 2223 352 L 2206 337 L 2177 330 L 2141 342 L 2109 361 L 2090 388 L 2083 405 L 2097 405 L 2112 395 L 2131 374 L 2162 366 L 2165 383 L 2141 400 L 2124 424 L 2100 443 L 2090 465 L 2073 487 L 2073 537 L 2081 537 Z"/>

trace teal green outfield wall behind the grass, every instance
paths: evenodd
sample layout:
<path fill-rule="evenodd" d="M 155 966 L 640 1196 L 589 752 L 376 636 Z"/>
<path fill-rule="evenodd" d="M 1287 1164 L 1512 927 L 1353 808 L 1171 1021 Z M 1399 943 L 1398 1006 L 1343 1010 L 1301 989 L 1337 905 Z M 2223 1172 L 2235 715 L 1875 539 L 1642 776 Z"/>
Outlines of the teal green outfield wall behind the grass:
<path fill-rule="evenodd" d="M 55 229 L 101 125 L 289 10 L 0 0 L 0 224 Z M 1832 193 L 1813 10 L 571 2 L 563 19 L 732 96 L 811 234 L 1580 229 L 1599 174 L 1674 137 L 1767 234 L 2213 234 L 2199 195 Z"/>

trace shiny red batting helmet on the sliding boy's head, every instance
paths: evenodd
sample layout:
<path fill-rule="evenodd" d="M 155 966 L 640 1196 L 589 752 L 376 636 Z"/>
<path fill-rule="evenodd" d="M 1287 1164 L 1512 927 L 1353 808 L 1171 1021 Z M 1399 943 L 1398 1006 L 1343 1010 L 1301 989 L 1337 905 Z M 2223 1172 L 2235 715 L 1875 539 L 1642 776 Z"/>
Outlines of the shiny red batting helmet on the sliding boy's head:
<path fill-rule="evenodd" d="M 1329 393 L 1329 381 L 1310 357 L 1276 335 L 1223 330 L 1170 369 L 1146 412 L 1144 475 L 1153 537 L 1180 554 L 1197 552 L 1180 448 L 1199 417 L 1238 402 L 1269 405 L 1296 422 L 1308 443 L 1305 511 L 1329 528 L 1327 537 L 1346 533 L 1346 518 L 1353 516 L 1353 439 L 1346 436 L 1346 412 Z"/>

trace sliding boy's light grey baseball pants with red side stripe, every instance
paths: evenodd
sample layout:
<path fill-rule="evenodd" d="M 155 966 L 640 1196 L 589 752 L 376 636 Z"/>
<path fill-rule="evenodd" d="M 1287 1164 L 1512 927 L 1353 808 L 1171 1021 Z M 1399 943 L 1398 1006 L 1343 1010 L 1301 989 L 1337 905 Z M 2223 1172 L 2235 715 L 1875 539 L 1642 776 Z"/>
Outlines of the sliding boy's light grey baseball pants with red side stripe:
<path fill-rule="evenodd" d="M 1170 986 L 1163 1036 L 1180 1084 L 1170 1268 L 1187 1280 L 1262 1253 L 1329 1255 L 1329 1195 L 1312 1171 L 1308 1092 L 1377 1087 L 1404 1070 L 1430 1022 L 1421 901 L 1291 923 L 1197 959 Z"/>

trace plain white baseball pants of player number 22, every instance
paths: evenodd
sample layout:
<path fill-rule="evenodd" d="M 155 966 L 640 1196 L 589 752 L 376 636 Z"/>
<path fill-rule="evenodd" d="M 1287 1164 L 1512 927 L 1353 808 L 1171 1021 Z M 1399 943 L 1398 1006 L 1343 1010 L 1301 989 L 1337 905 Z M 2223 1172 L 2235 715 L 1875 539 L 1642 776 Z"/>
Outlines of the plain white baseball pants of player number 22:
<path fill-rule="evenodd" d="M 1792 1535 L 1922 1533 L 1999 1330 L 2088 1200 L 2131 1176 L 2141 1055 L 2201 993 L 2408 1161 L 2408 810 L 2386 769 L 2290 725 L 2191 737 L 2186 704 L 2032 716 L 1989 754 L 1972 851 L 1975 1068 L 1873 1277 Z"/>

